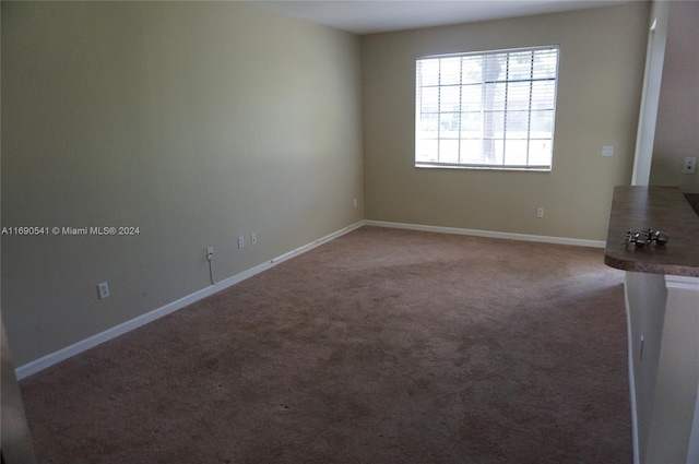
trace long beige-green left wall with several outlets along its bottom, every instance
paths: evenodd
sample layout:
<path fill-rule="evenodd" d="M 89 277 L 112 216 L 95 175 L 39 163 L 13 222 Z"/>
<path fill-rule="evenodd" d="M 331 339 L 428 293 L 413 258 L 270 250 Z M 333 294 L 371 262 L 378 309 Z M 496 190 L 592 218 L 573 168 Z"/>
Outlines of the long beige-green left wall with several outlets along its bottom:
<path fill-rule="evenodd" d="M 15 365 L 209 286 L 208 246 L 222 279 L 364 218 L 359 53 L 239 2 L 3 1 L 2 226 L 140 227 L 2 237 Z"/>

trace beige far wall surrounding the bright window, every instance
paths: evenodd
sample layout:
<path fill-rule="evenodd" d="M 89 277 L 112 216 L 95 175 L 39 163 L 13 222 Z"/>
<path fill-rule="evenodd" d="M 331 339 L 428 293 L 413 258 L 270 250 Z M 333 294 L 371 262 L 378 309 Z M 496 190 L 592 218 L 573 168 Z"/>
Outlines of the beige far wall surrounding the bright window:
<path fill-rule="evenodd" d="M 649 12 L 641 2 L 364 36 L 367 218 L 604 240 L 613 187 L 631 177 Z M 553 171 L 414 167 L 417 57 L 546 44 L 560 45 Z"/>

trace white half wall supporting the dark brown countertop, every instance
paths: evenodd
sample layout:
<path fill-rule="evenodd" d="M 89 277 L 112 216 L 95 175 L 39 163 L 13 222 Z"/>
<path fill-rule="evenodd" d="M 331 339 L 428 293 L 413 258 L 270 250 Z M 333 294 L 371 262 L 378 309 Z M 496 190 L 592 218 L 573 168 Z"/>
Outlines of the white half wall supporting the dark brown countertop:
<path fill-rule="evenodd" d="M 627 272 L 639 464 L 699 464 L 699 277 Z"/>

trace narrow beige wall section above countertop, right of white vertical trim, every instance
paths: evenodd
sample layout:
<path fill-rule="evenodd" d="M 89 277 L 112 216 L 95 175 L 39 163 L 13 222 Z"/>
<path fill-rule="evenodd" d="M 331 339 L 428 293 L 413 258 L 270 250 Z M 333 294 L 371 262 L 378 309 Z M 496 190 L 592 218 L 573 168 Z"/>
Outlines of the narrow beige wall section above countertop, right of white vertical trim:
<path fill-rule="evenodd" d="M 699 193 L 699 174 L 682 174 L 699 156 L 699 2 L 670 3 L 667 44 L 650 183 Z"/>

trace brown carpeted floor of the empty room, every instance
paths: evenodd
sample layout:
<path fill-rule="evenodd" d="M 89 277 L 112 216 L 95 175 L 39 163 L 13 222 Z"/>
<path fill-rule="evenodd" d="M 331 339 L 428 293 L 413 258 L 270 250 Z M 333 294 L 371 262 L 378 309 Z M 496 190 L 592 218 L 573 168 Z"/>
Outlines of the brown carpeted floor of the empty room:
<path fill-rule="evenodd" d="M 21 382 L 43 463 L 631 463 L 623 273 L 363 227 Z"/>

